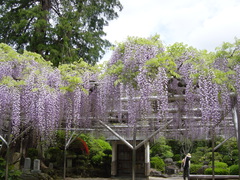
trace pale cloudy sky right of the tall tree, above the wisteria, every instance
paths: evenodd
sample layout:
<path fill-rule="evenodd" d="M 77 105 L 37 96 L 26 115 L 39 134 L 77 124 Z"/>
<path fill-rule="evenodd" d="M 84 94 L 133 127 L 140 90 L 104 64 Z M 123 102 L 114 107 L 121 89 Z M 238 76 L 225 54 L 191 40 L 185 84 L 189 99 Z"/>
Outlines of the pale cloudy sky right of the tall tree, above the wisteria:
<path fill-rule="evenodd" d="M 119 17 L 104 28 L 111 43 L 159 34 L 164 45 L 182 42 L 214 51 L 240 38 L 240 0 L 120 0 Z M 110 59 L 107 50 L 100 62 Z"/>

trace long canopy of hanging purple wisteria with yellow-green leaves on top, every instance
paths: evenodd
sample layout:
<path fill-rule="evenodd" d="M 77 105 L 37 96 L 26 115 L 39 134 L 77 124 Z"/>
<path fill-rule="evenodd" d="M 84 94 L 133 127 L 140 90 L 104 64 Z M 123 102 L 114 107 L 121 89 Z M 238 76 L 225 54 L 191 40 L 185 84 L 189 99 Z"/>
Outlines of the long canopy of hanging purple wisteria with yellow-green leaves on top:
<path fill-rule="evenodd" d="M 238 40 L 234 45 L 213 56 L 181 43 L 164 47 L 157 36 L 129 38 L 103 71 L 75 64 L 63 72 L 1 44 L 0 132 L 6 122 L 13 135 L 31 125 L 44 139 L 60 127 L 94 127 L 101 120 L 126 130 L 137 124 L 147 133 L 173 119 L 172 129 L 202 138 L 210 126 L 231 118 L 234 97 L 240 102 Z"/>

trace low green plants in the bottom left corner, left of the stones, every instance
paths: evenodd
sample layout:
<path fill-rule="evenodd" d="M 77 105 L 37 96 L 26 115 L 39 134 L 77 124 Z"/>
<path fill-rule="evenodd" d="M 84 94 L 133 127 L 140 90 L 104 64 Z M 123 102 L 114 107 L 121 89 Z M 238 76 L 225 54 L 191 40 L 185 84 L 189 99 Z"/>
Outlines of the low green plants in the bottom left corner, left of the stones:
<path fill-rule="evenodd" d="M 5 179 L 6 161 L 0 157 L 0 179 Z M 14 170 L 13 165 L 9 166 L 8 169 L 8 180 L 20 180 L 22 172 Z"/>

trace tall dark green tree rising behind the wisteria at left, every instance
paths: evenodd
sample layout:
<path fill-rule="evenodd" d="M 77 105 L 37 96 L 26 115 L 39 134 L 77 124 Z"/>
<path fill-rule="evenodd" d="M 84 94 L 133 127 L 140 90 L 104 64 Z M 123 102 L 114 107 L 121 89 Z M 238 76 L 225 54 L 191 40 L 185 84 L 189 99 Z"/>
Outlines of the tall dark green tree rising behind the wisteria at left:
<path fill-rule="evenodd" d="M 95 64 L 111 45 L 103 27 L 122 10 L 119 0 L 0 0 L 0 7 L 0 42 L 55 66 Z"/>

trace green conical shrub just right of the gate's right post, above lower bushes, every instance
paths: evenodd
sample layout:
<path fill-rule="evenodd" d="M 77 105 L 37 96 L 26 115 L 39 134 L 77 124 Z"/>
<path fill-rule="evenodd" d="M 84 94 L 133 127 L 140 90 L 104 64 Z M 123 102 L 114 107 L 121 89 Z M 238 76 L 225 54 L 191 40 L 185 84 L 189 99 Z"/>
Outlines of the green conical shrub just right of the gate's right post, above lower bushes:
<path fill-rule="evenodd" d="M 171 146 L 167 145 L 166 139 L 163 136 L 154 142 L 150 150 L 152 157 L 159 156 L 163 159 L 173 157 Z"/>

